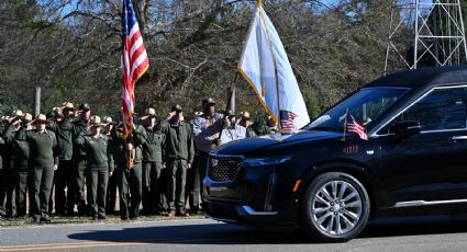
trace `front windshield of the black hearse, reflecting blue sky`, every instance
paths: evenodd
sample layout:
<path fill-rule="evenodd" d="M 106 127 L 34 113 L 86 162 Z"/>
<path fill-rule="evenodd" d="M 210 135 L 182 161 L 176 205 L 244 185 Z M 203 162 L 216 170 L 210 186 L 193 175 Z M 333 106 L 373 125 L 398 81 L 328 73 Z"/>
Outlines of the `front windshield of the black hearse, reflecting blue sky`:
<path fill-rule="evenodd" d="M 378 118 L 407 91 L 408 89 L 401 88 L 362 89 L 305 126 L 305 129 L 342 131 L 347 111 L 357 123 L 366 126 Z"/>

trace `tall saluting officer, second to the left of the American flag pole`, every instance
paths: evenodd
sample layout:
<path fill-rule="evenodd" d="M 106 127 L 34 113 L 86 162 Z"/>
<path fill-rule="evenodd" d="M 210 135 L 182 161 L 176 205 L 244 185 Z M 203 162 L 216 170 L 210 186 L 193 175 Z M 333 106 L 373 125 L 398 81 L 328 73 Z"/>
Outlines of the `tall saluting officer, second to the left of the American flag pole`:
<path fill-rule="evenodd" d="M 74 121 L 73 127 L 73 161 L 74 161 L 74 177 L 75 177 L 75 203 L 78 205 L 78 214 L 86 215 L 88 209 L 86 206 L 85 197 L 85 176 L 86 176 L 86 151 L 76 146 L 76 139 L 81 135 L 89 135 L 89 118 L 91 116 L 91 107 L 89 104 L 84 103 L 79 105 L 77 111 L 79 116 Z"/>

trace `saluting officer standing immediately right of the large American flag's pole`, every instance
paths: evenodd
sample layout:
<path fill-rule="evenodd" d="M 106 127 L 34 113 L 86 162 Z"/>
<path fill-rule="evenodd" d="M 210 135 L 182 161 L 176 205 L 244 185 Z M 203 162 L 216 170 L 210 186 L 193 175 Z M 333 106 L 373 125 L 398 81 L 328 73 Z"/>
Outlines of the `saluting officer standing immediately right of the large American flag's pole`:
<path fill-rule="evenodd" d="M 166 202 L 162 183 L 163 156 L 165 135 L 156 126 L 156 111 L 146 108 L 141 118 L 143 126 L 136 128 L 135 134 L 141 136 L 143 150 L 143 210 L 145 214 L 164 211 Z"/>

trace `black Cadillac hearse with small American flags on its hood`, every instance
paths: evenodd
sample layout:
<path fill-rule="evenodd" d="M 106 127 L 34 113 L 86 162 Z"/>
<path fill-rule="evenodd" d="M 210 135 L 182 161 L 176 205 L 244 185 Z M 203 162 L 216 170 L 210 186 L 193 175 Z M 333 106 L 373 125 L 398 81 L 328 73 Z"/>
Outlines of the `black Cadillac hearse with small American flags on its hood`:
<path fill-rule="evenodd" d="M 346 115 L 368 135 L 344 134 Z M 467 209 L 467 67 L 393 73 L 302 130 L 214 149 L 203 207 L 248 227 L 347 241 L 368 219 Z"/>

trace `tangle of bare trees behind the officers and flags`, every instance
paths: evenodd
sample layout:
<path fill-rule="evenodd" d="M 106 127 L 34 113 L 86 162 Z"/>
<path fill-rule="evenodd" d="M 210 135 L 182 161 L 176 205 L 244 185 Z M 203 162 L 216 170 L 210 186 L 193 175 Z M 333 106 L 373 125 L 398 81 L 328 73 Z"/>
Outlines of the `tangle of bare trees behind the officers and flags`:
<path fill-rule="evenodd" d="M 264 0 L 307 103 L 316 114 L 382 73 L 388 1 Z M 134 0 L 151 58 L 136 87 L 136 110 L 163 113 L 181 103 L 192 111 L 214 96 L 222 105 L 252 18 L 254 0 Z M 44 88 L 44 105 L 89 102 L 114 114 L 121 103 L 121 1 L 0 2 L 0 103 L 31 103 Z M 238 83 L 238 107 L 263 112 Z M 24 95 L 18 95 L 18 92 Z M 2 106 L 0 106 L 2 110 Z M 0 111 L 1 112 L 1 111 Z"/>

